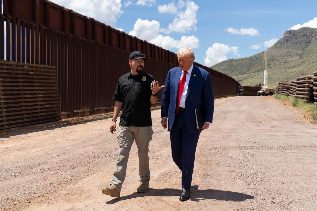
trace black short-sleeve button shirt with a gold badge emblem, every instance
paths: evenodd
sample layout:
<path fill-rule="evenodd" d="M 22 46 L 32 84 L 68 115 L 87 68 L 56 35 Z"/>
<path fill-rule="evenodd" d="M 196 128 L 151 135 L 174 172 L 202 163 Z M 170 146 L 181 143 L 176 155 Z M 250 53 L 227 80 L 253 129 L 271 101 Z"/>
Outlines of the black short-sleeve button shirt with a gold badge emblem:
<path fill-rule="evenodd" d="M 129 72 L 119 78 L 113 99 L 122 102 L 120 126 L 152 126 L 150 85 L 153 80 L 152 75 L 144 72 L 139 75 Z"/>

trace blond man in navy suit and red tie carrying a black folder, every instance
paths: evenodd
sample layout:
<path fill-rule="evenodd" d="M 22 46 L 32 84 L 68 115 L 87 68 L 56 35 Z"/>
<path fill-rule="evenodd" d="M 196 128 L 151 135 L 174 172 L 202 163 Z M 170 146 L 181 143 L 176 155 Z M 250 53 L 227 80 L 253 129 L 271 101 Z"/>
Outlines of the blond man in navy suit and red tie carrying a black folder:
<path fill-rule="evenodd" d="M 210 74 L 194 65 L 191 48 L 177 52 L 179 67 L 168 71 L 162 95 L 162 126 L 168 127 L 171 137 L 172 158 L 182 171 L 182 193 L 179 200 L 190 198 L 191 179 L 194 170 L 199 134 L 208 129 L 214 113 L 214 96 Z M 197 129 L 195 109 L 204 105 L 205 122 Z M 167 118 L 168 117 L 168 118 Z"/>

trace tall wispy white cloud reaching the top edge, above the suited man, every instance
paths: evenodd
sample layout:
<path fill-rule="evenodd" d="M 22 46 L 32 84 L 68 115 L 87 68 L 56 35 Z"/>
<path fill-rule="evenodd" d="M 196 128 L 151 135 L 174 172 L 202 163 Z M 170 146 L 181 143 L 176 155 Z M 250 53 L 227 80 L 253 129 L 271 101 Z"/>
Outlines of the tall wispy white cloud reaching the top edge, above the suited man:
<path fill-rule="evenodd" d="M 178 3 L 178 7 L 182 7 L 182 3 L 180 2 Z M 164 32 L 165 34 L 170 34 L 173 31 L 186 33 L 191 30 L 197 30 L 196 12 L 199 6 L 189 0 L 187 0 L 185 5 L 186 10 L 179 12 L 177 16 L 174 18 L 173 22 L 168 25 L 167 29 L 161 29 L 162 32 Z"/>

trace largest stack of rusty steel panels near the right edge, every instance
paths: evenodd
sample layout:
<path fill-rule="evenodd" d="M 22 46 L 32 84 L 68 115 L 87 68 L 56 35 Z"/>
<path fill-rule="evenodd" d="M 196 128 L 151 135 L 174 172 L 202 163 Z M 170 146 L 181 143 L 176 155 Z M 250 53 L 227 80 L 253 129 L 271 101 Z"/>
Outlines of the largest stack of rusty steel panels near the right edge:
<path fill-rule="evenodd" d="M 297 77 L 295 84 L 296 84 L 296 92 L 295 97 L 303 100 L 307 103 L 314 102 L 314 80 L 313 75 L 306 75 Z"/>

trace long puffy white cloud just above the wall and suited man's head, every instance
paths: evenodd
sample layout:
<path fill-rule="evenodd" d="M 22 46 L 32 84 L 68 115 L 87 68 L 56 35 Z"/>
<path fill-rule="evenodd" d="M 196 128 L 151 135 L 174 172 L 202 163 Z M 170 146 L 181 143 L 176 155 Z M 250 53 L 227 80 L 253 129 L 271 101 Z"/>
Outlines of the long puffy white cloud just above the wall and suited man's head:
<path fill-rule="evenodd" d="M 138 19 L 132 31 L 129 35 L 137 36 L 142 40 L 153 43 L 165 49 L 171 48 L 199 48 L 198 37 L 193 36 L 182 36 L 180 40 L 175 40 L 170 36 L 163 36 L 159 34 L 160 23 L 158 21 L 152 20 L 142 20 Z"/>

